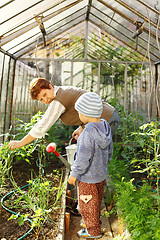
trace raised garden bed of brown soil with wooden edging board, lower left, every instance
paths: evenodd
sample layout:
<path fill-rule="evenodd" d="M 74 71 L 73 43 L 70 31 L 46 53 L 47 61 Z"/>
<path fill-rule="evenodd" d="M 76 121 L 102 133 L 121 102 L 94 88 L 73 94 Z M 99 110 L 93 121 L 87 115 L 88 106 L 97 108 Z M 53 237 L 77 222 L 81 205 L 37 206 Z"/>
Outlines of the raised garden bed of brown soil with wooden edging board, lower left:
<path fill-rule="evenodd" d="M 37 168 L 36 162 L 32 160 L 31 165 L 28 164 L 26 161 L 18 161 L 16 164 L 13 165 L 13 179 L 16 182 L 18 187 L 22 187 L 27 184 L 27 181 L 31 179 L 31 170 L 34 171 L 35 175 L 38 175 L 39 169 Z M 58 177 L 57 174 L 55 174 L 55 171 L 63 171 L 64 177 L 65 177 L 65 167 L 57 160 L 50 165 L 48 165 L 45 168 L 45 178 L 49 181 L 53 181 L 55 184 L 55 187 L 58 187 L 60 182 L 60 175 Z M 13 185 L 7 179 L 7 185 L 3 189 L 3 193 L 1 193 L 1 197 L 4 197 L 6 194 L 10 193 L 13 190 Z M 27 188 L 24 189 L 24 193 L 27 194 Z M 16 195 L 13 197 L 13 199 L 16 198 Z M 54 205 L 54 198 L 52 199 L 52 195 L 49 198 L 50 206 Z M 4 202 L 5 206 L 9 204 L 9 199 L 6 198 Z M 17 240 L 17 239 L 23 239 L 23 236 L 25 236 L 25 239 L 58 239 L 63 240 L 64 236 L 64 210 L 65 209 L 65 189 L 63 190 L 63 194 L 60 197 L 60 200 L 58 202 L 57 207 L 54 209 L 54 211 L 51 211 L 48 215 L 48 220 L 44 222 L 42 225 L 40 231 L 32 230 L 31 233 L 29 233 L 27 236 L 26 233 L 31 229 L 30 224 L 28 224 L 27 221 L 24 222 L 23 225 L 19 226 L 18 219 L 11 219 L 8 220 L 11 216 L 11 213 L 6 211 L 2 206 L 0 206 L 0 236 L 1 238 L 4 238 L 6 240 Z M 13 208 L 12 211 L 19 212 L 19 209 L 17 207 Z M 23 209 L 20 214 L 29 214 L 32 216 L 31 209 Z M 29 216 L 29 217 L 30 217 Z M 63 226 L 62 226 L 63 225 Z"/>

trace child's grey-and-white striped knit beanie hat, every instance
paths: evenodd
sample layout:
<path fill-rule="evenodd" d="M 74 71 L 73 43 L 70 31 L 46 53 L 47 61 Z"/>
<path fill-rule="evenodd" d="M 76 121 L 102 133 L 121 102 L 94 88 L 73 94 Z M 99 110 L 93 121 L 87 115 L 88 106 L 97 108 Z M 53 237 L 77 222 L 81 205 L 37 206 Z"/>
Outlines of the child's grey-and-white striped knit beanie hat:
<path fill-rule="evenodd" d="M 100 96 L 93 92 L 82 94 L 75 103 L 75 109 L 87 117 L 101 117 L 103 104 Z"/>

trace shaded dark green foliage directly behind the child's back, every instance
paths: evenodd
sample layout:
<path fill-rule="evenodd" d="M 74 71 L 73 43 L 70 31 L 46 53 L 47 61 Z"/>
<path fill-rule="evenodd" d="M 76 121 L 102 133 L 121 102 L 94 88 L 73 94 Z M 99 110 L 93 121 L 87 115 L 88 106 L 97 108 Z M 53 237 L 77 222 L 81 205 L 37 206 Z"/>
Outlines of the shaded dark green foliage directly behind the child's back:
<path fill-rule="evenodd" d="M 143 117 L 136 113 L 131 113 L 126 117 L 122 106 L 118 110 L 121 116 L 121 124 L 117 130 L 116 141 L 113 144 L 112 161 L 108 166 L 113 182 L 121 181 L 122 177 L 129 180 L 132 170 L 130 162 L 137 154 L 143 154 L 137 138 L 131 134 L 132 131 L 139 128 L 139 124 L 143 122 Z"/>

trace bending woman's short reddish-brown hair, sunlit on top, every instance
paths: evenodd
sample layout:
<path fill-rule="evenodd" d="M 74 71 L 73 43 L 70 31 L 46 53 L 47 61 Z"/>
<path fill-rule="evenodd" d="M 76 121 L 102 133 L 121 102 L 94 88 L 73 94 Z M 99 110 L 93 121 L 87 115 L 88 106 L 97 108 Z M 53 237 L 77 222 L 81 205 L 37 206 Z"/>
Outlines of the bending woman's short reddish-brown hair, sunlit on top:
<path fill-rule="evenodd" d="M 34 78 L 30 82 L 30 95 L 32 100 L 37 99 L 38 94 L 42 89 L 50 89 L 50 82 L 45 78 Z"/>

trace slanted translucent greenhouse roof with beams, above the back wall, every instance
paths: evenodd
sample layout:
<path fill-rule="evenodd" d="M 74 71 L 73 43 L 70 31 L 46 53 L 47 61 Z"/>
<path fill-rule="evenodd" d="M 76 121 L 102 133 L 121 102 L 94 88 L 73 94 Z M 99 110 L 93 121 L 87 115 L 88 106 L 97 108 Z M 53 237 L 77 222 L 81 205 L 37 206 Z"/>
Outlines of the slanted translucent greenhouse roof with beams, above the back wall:
<path fill-rule="evenodd" d="M 110 59 L 116 49 L 115 60 L 159 61 L 160 0 L 0 4 L 0 49 L 15 58 Z"/>

